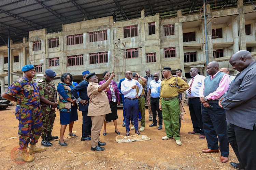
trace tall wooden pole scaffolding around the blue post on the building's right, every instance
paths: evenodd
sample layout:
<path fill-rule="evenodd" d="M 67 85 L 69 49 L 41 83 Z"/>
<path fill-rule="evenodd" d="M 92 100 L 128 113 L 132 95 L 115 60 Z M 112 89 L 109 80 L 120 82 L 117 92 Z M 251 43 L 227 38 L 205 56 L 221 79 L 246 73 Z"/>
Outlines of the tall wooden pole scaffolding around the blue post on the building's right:
<path fill-rule="evenodd" d="M 216 42 L 216 27 L 217 27 L 217 18 L 216 18 L 216 1 L 214 6 L 211 8 L 211 14 L 208 16 L 206 11 L 205 3 L 200 9 L 200 33 L 201 33 L 201 58 L 200 58 L 200 72 L 202 71 L 206 75 L 206 66 L 209 61 L 209 56 L 216 55 L 217 42 Z M 207 27 L 210 26 L 212 32 L 215 32 L 215 36 L 207 34 Z M 205 36 L 206 35 L 206 36 Z M 210 47 L 208 49 L 208 47 Z M 203 65 L 203 67 L 202 67 Z"/>

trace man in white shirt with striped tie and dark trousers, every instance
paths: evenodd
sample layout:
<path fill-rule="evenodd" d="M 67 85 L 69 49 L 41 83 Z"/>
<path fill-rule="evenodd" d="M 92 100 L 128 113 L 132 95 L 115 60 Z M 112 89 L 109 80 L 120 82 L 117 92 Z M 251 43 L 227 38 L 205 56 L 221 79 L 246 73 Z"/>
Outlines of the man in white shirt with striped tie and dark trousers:
<path fill-rule="evenodd" d="M 198 69 L 193 67 L 190 69 L 189 74 L 193 79 L 188 82 L 189 89 L 187 90 L 188 94 L 188 107 L 190 112 L 191 121 L 193 124 L 193 131 L 188 132 L 188 134 L 200 134 L 199 139 L 204 139 L 205 134 L 203 130 L 203 121 L 202 121 L 202 111 L 201 111 L 201 102 L 199 89 L 205 79 L 203 75 L 198 74 Z"/>

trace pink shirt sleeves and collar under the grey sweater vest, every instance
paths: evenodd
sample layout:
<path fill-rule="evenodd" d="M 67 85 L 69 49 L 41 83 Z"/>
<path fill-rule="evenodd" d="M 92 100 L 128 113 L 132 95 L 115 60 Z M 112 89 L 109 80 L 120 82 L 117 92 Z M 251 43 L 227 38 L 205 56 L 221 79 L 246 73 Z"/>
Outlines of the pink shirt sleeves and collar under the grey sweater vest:
<path fill-rule="evenodd" d="M 219 71 L 218 71 L 219 72 Z M 214 74 L 213 76 L 211 76 L 211 79 L 213 79 L 215 77 L 215 75 L 218 74 L 218 72 L 216 74 Z M 224 93 L 228 90 L 229 87 L 229 83 L 230 83 L 230 77 L 228 74 L 224 74 L 222 80 L 219 82 L 219 87 L 216 89 L 216 91 L 210 93 L 208 96 L 206 96 L 207 100 L 215 100 L 220 98 L 222 95 L 224 95 Z M 204 90 L 204 81 L 202 82 L 201 88 L 199 90 L 199 94 L 200 97 L 203 97 L 203 90 Z"/>

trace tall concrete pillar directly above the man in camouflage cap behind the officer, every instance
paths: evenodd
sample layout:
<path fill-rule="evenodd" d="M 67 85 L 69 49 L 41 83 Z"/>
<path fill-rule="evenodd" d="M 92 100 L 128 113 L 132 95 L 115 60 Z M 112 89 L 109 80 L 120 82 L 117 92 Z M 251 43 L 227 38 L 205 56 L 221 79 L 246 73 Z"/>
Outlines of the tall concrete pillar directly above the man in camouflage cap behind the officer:
<path fill-rule="evenodd" d="M 178 17 L 182 17 L 181 10 L 177 11 Z M 183 28 L 182 22 L 178 22 L 178 37 L 179 37 L 179 57 L 180 57 L 180 69 L 183 70 L 182 75 L 185 76 L 184 66 L 184 50 L 183 50 Z"/>

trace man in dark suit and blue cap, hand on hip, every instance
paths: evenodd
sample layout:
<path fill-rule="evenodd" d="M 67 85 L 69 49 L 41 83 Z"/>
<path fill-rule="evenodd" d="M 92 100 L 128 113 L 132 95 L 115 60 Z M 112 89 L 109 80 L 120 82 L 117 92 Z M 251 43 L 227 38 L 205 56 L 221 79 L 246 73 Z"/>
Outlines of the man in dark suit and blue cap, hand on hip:
<path fill-rule="evenodd" d="M 90 72 L 88 70 L 83 72 L 83 81 L 80 82 L 77 86 L 71 89 L 71 93 L 79 102 L 79 111 L 82 111 L 83 115 L 83 125 L 82 125 L 82 137 L 81 140 L 91 140 L 89 135 L 91 134 L 91 117 L 87 116 L 88 114 L 88 106 L 89 106 L 89 98 L 87 96 L 87 86 L 89 84 L 86 76 Z M 79 92 L 79 95 L 77 94 Z"/>

